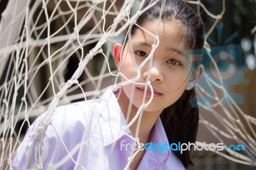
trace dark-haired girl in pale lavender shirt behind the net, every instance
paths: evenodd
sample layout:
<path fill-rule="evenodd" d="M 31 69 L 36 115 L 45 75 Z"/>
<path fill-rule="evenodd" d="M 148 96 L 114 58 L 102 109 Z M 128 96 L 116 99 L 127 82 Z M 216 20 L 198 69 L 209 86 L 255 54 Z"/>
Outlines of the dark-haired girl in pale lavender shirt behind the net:
<path fill-rule="evenodd" d="M 98 100 L 58 107 L 47 123 L 44 114 L 37 118 L 11 168 L 188 168 L 189 151 L 141 146 L 195 142 L 198 109 L 191 100 L 204 66 L 187 65 L 183 52 L 202 48 L 203 33 L 200 17 L 181 1 L 148 8 L 127 32 L 131 38 L 113 47 L 122 86 L 111 86 Z"/>

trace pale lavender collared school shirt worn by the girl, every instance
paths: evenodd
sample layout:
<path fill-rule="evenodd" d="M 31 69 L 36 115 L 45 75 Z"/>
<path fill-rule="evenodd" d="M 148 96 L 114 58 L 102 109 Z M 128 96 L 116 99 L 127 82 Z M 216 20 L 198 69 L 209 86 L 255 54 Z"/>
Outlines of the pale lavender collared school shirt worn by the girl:
<path fill-rule="evenodd" d="M 45 128 L 41 153 L 36 151 L 36 140 L 28 161 L 29 148 L 36 137 L 36 129 L 42 127 L 44 116 L 42 114 L 29 127 L 13 155 L 11 169 L 120 170 L 127 165 L 134 140 L 129 128 L 124 128 L 127 122 L 112 87 L 97 100 L 56 107 Z M 152 128 L 151 142 L 168 143 L 160 118 Z M 36 157 L 38 154 L 42 158 L 41 164 Z M 137 169 L 185 168 L 172 151 L 146 150 Z"/>

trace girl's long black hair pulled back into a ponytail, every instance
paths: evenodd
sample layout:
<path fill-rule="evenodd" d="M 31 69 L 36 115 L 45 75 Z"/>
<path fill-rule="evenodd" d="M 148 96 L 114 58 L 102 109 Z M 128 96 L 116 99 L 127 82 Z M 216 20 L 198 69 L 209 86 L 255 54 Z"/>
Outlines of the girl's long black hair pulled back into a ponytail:
<path fill-rule="evenodd" d="M 146 1 L 143 8 L 146 8 L 152 1 Z M 163 12 L 161 13 L 161 10 Z M 185 43 L 189 49 L 200 49 L 204 46 L 204 22 L 195 10 L 188 4 L 179 0 L 158 1 L 154 6 L 143 12 L 136 20 L 136 24 L 143 26 L 152 20 L 159 19 L 167 21 L 179 21 L 182 24 Z M 134 24 L 131 28 L 131 35 L 138 29 Z M 195 143 L 198 130 L 198 107 L 192 107 L 191 102 L 195 103 L 195 89 L 185 90 L 182 96 L 174 104 L 166 107 L 160 115 L 164 130 L 169 143 Z M 180 151 L 173 151 L 184 167 L 193 165 L 189 157 L 189 151 L 182 154 Z"/>

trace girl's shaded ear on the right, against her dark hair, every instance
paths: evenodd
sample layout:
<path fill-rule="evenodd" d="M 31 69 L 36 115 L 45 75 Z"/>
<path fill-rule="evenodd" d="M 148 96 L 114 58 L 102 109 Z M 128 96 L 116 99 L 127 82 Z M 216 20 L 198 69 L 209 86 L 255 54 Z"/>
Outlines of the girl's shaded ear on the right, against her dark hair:
<path fill-rule="evenodd" d="M 192 75 L 189 77 L 188 84 L 186 86 L 186 90 L 192 89 L 196 86 L 197 82 L 200 80 L 204 73 L 204 65 L 199 65 L 198 70 L 192 73 Z"/>

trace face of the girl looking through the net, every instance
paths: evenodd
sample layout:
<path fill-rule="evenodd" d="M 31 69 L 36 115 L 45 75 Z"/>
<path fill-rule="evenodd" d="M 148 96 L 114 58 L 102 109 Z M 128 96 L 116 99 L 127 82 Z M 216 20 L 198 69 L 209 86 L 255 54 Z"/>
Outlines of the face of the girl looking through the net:
<path fill-rule="evenodd" d="M 148 58 L 152 51 L 152 45 L 155 42 L 153 35 L 156 34 L 156 27 L 157 20 L 154 20 L 143 25 L 143 29 L 148 32 L 141 28 L 136 29 L 131 40 L 124 47 L 121 60 L 118 60 L 118 53 L 115 52 L 116 66 L 120 68 L 119 71 L 127 79 L 136 77 L 141 63 Z M 141 67 L 141 76 L 136 80 L 136 82 L 145 83 L 147 82 L 147 77 L 150 76 L 149 81 L 154 92 L 149 87 L 145 92 L 145 85 L 141 84 L 132 85 L 130 83 L 125 85 L 122 87 L 123 91 L 120 95 L 122 100 L 127 100 L 127 104 L 132 101 L 132 104 L 138 108 L 143 104 L 144 94 L 146 96 L 145 102 L 148 102 L 151 94 L 154 93 L 154 98 L 145 111 L 162 112 L 164 108 L 172 105 L 181 97 L 187 84 L 184 58 L 182 56 L 182 52 L 186 50 L 186 45 L 184 44 L 184 35 L 181 30 L 182 24 L 179 22 L 160 22 L 157 33 L 159 35 L 159 45 L 153 54 L 152 67 L 148 70 L 150 61 L 147 61 Z M 124 82 L 126 79 L 121 76 L 121 81 Z"/>

